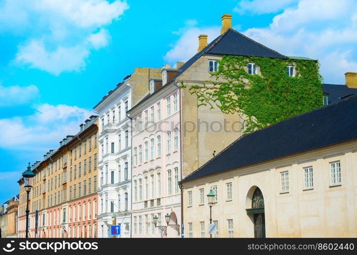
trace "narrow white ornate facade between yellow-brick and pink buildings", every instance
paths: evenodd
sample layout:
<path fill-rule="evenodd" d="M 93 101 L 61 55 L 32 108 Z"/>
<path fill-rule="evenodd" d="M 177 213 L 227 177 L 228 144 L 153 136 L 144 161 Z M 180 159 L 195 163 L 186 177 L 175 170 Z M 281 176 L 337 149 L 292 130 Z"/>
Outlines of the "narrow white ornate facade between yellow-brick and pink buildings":
<path fill-rule="evenodd" d="M 114 215 L 121 227 L 117 237 L 131 237 L 131 122 L 126 116 L 132 106 L 131 93 L 124 81 L 94 108 L 99 114 L 99 238 L 110 237 Z"/>

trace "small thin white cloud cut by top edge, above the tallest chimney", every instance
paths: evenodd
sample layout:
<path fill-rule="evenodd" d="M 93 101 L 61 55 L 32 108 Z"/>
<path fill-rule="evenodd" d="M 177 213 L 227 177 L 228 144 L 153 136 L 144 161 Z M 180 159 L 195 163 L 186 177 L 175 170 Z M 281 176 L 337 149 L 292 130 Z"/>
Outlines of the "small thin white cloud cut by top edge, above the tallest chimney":
<path fill-rule="evenodd" d="M 256 14 L 275 13 L 296 2 L 297 0 L 276 0 L 274 2 L 271 0 L 241 0 L 233 10 L 239 14 L 244 14 L 245 12 Z"/>

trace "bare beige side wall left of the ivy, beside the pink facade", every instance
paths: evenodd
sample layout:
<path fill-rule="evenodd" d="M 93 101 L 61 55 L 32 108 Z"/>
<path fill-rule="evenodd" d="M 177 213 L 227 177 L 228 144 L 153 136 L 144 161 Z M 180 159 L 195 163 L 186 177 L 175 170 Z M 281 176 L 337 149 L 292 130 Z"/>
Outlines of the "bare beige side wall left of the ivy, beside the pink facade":
<path fill-rule="evenodd" d="M 212 159 L 214 151 L 217 155 L 242 135 L 238 114 L 224 114 L 217 107 L 197 107 L 197 96 L 189 92 L 189 86 L 213 80 L 208 71 L 208 61 L 217 59 L 220 57 L 202 56 L 177 78 L 178 83 L 183 82 L 187 86 L 182 89 L 181 96 L 183 177 Z"/>

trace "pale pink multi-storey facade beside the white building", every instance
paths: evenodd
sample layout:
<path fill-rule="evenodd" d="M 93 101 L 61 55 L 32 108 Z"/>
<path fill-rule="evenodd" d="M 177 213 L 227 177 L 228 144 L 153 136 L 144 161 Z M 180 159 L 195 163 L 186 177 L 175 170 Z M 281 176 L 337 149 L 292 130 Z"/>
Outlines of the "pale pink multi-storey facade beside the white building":
<path fill-rule="evenodd" d="M 150 83 L 153 81 L 150 81 Z M 133 120 L 132 237 L 179 237 L 180 90 L 161 87 L 130 113 Z M 170 215 L 169 226 L 165 215 Z M 158 217 L 157 226 L 153 223 Z M 166 226 L 166 227 L 165 227 Z"/>

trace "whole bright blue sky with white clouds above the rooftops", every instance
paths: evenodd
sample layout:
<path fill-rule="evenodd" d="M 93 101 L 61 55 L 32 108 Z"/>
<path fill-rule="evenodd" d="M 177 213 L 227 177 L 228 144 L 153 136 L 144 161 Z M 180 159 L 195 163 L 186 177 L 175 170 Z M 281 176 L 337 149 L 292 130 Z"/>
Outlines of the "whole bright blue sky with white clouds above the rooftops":
<path fill-rule="evenodd" d="M 356 0 L 0 0 L 0 13 L 0 203 L 134 67 L 189 59 L 224 13 L 279 53 L 319 59 L 325 83 L 357 71 Z"/>

